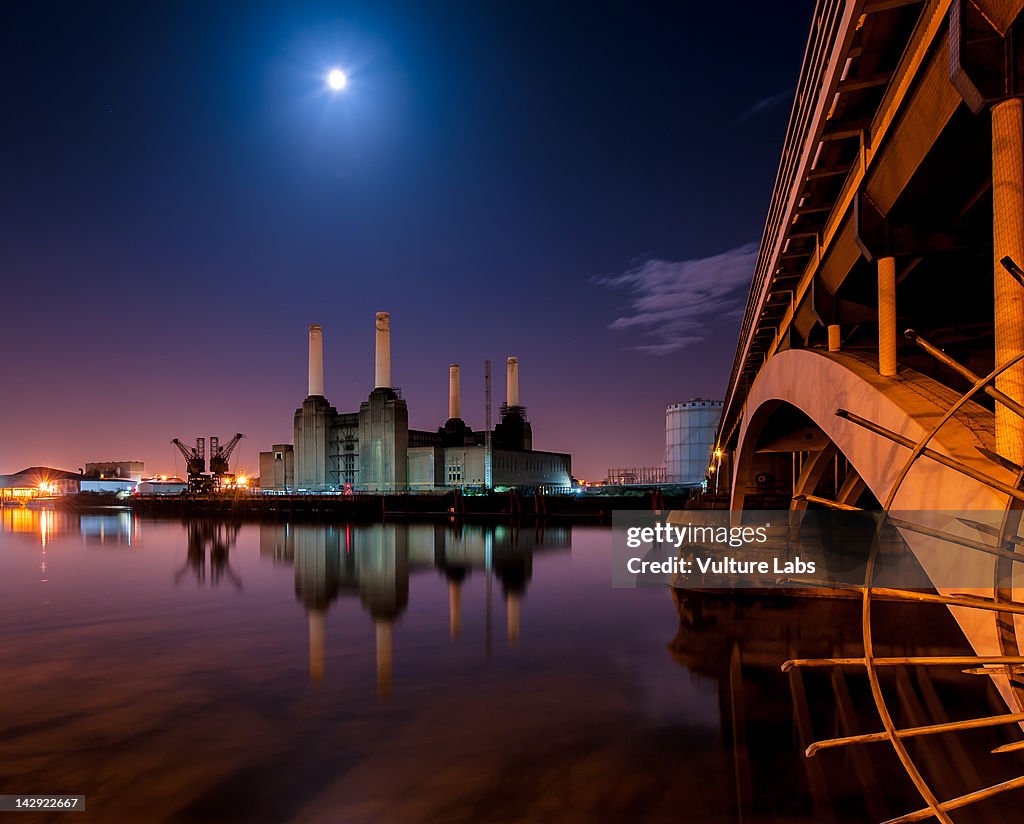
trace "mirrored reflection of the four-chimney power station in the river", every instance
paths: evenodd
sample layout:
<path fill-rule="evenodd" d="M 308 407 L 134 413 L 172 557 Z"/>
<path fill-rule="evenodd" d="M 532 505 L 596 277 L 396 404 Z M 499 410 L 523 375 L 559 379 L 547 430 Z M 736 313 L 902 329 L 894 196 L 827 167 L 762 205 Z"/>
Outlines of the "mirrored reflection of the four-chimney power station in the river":
<path fill-rule="evenodd" d="M 568 550 L 571 530 L 543 532 L 506 526 L 454 528 L 434 524 L 314 526 L 270 524 L 260 527 L 260 555 L 294 564 L 295 594 L 309 619 L 309 674 L 324 678 L 324 621 L 340 598 L 357 597 L 376 628 L 377 690 L 391 690 L 392 634 L 409 605 L 409 578 L 434 569 L 447 579 L 449 627 L 462 630 L 462 588 L 474 571 L 486 575 L 486 644 L 492 640 L 490 588 L 497 579 L 505 600 L 508 643 L 519 640 L 519 614 L 532 572 L 534 553 Z"/>

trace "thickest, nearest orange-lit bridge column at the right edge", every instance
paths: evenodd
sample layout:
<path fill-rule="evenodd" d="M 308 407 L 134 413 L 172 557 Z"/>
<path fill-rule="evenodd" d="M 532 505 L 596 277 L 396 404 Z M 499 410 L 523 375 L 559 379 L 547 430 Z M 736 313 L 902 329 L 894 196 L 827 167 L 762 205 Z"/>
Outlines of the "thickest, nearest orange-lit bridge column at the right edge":
<path fill-rule="evenodd" d="M 992 241 L 995 291 L 995 365 L 1024 351 L 1024 290 L 1002 268 L 1007 255 L 1024 265 L 1024 128 L 1019 98 L 992 105 Z M 1005 371 L 995 388 L 1024 401 L 1024 364 Z M 995 404 L 995 449 L 1024 460 L 1024 421 Z"/>

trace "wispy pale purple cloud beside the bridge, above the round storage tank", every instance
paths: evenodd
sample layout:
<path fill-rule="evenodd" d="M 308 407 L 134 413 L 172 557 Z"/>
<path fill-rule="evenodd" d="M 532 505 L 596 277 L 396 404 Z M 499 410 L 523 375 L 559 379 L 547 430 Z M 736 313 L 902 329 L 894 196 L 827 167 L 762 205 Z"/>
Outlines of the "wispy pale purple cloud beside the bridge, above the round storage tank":
<path fill-rule="evenodd" d="M 628 289 L 623 315 L 608 329 L 636 330 L 650 343 L 634 347 L 668 355 L 707 339 L 722 321 L 743 311 L 754 275 L 756 244 L 696 260 L 648 260 L 623 274 L 594 279 L 610 289 Z"/>

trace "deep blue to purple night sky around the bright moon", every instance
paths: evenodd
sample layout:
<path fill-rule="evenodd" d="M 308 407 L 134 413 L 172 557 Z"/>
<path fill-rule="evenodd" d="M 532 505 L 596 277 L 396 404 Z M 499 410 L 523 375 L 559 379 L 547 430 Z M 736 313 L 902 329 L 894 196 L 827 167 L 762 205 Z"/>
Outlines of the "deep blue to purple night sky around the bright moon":
<path fill-rule="evenodd" d="M 306 329 L 410 425 L 664 463 L 720 398 L 812 2 L 24 2 L 0 10 L 0 472 L 291 442 Z M 325 76 L 349 75 L 340 94 Z M 180 458 L 177 470 L 183 471 Z"/>

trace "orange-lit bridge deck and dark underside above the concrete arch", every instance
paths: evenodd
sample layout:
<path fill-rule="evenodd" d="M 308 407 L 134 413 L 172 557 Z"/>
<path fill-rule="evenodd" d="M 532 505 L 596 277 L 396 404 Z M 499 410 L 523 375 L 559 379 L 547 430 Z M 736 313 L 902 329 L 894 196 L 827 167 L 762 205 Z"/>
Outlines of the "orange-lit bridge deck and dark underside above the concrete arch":
<path fill-rule="evenodd" d="M 843 489 L 851 456 L 841 449 L 830 469 L 785 439 L 740 449 L 750 397 L 779 354 L 849 355 L 873 367 L 883 394 L 927 379 L 948 405 L 1024 351 L 1024 284 L 1010 271 L 1024 266 L 1022 6 L 818 4 L 712 461 L 734 508 L 752 491 L 803 507 L 800 490 L 829 478 L 833 494 L 871 494 L 853 481 Z M 993 385 L 1024 400 L 1020 365 Z M 1024 418 L 996 394 L 978 392 L 959 417 L 995 432 L 989 464 L 1024 463 Z"/>

